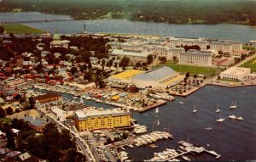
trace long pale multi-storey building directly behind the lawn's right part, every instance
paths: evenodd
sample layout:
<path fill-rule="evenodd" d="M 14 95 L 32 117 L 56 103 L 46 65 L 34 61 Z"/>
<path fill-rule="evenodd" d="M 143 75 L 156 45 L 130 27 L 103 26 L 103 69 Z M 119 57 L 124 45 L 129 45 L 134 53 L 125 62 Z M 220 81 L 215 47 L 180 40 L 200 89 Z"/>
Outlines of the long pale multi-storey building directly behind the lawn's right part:
<path fill-rule="evenodd" d="M 212 65 L 211 51 L 188 50 L 180 54 L 179 64 Z"/>

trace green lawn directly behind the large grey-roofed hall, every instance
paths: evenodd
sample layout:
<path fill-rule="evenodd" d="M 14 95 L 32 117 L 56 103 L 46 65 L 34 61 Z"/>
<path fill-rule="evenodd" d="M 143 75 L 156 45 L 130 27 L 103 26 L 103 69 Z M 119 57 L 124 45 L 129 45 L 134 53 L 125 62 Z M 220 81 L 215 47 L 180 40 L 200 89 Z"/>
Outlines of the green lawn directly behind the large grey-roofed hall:
<path fill-rule="evenodd" d="M 217 73 L 217 70 L 214 68 L 207 68 L 207 67 L 200 67 L 200 66 L 191 66 L 191 65 L 184 65 L 184 64 L 173 64 L 173 63 L 166 63 L 160 64 L 166 65 L 177 72 L 186 73 L 189 72 L 190 74 L 213 74 Z"/>

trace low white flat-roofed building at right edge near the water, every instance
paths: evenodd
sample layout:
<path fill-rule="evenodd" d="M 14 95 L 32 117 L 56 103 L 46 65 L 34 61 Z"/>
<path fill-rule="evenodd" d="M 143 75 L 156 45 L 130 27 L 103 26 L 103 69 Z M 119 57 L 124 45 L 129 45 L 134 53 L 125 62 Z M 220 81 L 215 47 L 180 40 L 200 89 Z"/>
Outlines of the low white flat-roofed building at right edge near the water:
<path fill-rule="evenodd" d="M 249 68 L 231 67 L 221 72 L 219 76 L 224 80 L 245 81 L 250 73 L 251 69 Z"/>

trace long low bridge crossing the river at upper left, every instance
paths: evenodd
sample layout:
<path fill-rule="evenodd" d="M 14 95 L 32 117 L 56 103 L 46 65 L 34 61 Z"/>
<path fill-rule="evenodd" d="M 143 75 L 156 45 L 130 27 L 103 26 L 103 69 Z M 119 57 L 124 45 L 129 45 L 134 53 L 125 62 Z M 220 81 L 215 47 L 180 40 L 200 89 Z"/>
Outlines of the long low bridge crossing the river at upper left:
<path fill-rule="evenodd" d="M 64 20 L 18 20 L 18 21 L 0 21 L 0 25 L 9 25 L 9 24 L 28 24 L 28 23 L 49 23 L 49 22 L 60 22 L 60 21 L 73 21 L 73 19 L 64 19 Z"/>

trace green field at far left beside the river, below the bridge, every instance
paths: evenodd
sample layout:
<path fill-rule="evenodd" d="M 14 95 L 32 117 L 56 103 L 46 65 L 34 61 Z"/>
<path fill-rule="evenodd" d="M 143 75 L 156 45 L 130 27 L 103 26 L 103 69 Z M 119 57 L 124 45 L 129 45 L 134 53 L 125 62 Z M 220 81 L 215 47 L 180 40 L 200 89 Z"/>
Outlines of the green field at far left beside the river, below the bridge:
<path fill-rule="evenodd" d="M 14 34 L 44 34 L 45 31 L 38 30 L 26 25 L 2 25 L 7 33 Z"/>

